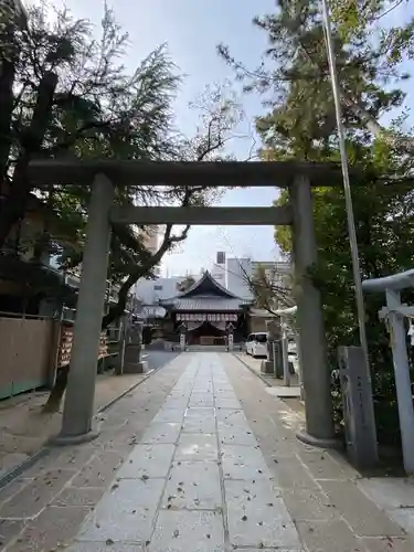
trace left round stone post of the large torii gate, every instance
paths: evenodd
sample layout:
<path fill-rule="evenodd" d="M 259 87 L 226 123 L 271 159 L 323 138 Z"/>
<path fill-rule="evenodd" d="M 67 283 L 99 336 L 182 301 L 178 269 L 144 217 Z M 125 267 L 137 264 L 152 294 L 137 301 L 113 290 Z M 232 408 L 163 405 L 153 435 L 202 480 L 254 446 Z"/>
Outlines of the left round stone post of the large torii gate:
<path fill-rule="evenodd" d="M 108 269 L 109 210 L 114 195 L 110 180 L 97 174 L 92 185 L 71 368 L 56 444 L 82 443 L 96 436 L 92 432 L 92 417 Z"/>

